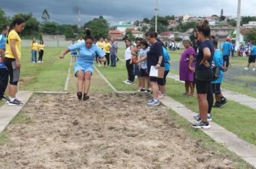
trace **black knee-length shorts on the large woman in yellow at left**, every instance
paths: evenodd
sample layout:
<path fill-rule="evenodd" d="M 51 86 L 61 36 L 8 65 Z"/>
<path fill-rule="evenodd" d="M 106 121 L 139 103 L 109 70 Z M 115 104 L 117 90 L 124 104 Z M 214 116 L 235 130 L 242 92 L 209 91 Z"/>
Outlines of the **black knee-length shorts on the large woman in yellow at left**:
<path fill-rule="evenodd" d="M 10 77 L 9 84 L 17 86 L 19 82 L 20 69 L 16 67 L 16 60 L 9 57 L 5 57 L 4 64 L 6 65 L 9 72 L 9 77 Z"/>

